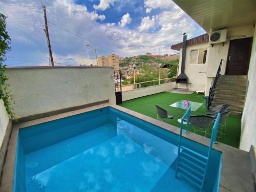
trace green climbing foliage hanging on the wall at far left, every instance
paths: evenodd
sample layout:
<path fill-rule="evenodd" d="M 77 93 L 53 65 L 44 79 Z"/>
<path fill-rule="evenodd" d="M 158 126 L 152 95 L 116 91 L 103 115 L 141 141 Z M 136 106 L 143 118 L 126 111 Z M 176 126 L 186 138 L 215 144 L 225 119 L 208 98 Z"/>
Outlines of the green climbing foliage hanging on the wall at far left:
<path fill-rule="evenodd" d="M 3 99 L 7 113 L 12 119 L 15 119 L 12 112 L 11 103 L 14 103 L 9 91 L 9 84 L 7 83 L 8 77 L 5 75 L 6 65 L 6 52 L 10 51 L 11 38 L 6 31 L 6 16 L 0 13 L 0 99 Z"/>

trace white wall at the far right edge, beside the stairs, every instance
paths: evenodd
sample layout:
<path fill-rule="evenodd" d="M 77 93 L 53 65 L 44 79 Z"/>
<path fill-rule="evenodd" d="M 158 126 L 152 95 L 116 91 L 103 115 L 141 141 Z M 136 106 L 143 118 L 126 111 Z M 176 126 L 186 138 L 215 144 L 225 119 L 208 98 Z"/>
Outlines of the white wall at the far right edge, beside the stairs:
<path fill-rule="evenodd" d="M 256 29 L 252 43 L 250 66 L 248 71 L 248 88 L 242 116 L 242 133 L 240 148 L 245 151 L 250 150 L 250 146 L 256 148 Z"/>

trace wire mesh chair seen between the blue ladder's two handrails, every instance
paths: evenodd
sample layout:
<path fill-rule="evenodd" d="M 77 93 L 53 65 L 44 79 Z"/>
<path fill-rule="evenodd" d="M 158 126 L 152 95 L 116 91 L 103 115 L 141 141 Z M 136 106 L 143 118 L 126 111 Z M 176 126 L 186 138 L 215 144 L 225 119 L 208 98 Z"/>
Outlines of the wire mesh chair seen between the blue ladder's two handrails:
<path fill-rule="evenodd" d="M 210 117 L 206 115 L 191 115 L 189 119 L 190 125 L 194 129 L 194 133 L 203 132 L 204 137 L 206 137 L 207 129 L 210 123 L 214 122 L 215 117 Z"/>

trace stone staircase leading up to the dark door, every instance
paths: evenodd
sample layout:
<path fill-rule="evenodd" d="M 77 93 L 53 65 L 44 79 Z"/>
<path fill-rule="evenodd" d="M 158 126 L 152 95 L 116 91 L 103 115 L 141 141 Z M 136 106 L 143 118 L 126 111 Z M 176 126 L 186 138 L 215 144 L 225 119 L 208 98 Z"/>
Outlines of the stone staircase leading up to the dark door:
<path fill-rule="evenodd" d="M 228 103 L 232 114 L 242 115 L 247 87 L 246 75 L 220 75 L 211 108 L 219 104 Z"/>

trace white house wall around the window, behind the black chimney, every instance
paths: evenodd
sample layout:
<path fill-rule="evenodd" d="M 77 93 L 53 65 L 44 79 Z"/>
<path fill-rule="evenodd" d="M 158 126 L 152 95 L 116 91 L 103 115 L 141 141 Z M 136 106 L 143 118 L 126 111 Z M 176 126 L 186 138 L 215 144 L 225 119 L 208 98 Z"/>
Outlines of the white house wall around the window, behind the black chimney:
<path fill-rule="evenodd" d="M 189 82 L 191 82 L 190 90 L 197 91 L 201 88 L 202 85 L 206 84 L 206 70 L 208 65 L 208 54 L 206 56 L 205 64 L 190 64 L 190 51 L 195 49 L 208 48 L 208 43 L 199 44 L 195 46 L 187 46 L 186 50 L 186 63 L 185 63 L 185 74 L 188 76 Z M 179 63 L 179 74 L 181 73 L 181 58 L 182 58 L 182 49 L 180 50 L 180 63 Z M 207 50 L 208 52 L 208 50 Z M 179 84 L 179 88 L 185 88 L 185 85 Z"/>

